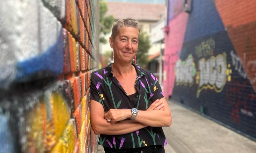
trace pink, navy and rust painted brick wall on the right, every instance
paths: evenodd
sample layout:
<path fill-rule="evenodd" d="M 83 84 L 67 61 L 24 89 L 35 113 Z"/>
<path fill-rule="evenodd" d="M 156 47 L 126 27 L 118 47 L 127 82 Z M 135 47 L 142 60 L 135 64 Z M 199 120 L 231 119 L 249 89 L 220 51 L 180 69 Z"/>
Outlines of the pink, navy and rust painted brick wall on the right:
<path fill-rule="evenodd" d="M 164 95 L 256 140 L 256 1 L 168 2 Z"/>

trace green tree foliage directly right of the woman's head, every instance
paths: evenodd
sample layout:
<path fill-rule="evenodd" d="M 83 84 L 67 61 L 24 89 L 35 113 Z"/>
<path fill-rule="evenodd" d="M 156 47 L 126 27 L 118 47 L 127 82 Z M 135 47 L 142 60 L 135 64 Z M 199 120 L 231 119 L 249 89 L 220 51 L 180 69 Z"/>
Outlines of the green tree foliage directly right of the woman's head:
<path fill-rule="evenodd" d="M 151 47 L 149 36 L 145 32 L 140 32 L 139 47 L 136 55 L 136 64 L 145 66 L 148 63 L 148 50 Z"/>

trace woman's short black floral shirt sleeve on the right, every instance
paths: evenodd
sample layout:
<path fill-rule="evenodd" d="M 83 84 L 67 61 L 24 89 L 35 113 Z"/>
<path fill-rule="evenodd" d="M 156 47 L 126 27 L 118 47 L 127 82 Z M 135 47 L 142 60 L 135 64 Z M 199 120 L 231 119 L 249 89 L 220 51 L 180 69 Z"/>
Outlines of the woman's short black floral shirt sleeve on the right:
<path fill-rule="evenodd" d="M 163 92 L 162 92 L 162 88 L 157 80 L 157 77 L 153 74 L 150 73 L 150 82 L 151 82 L 151 87 L 152 87 L 152 93 L 154 94 L 152 96 L 152 100 L 155 101 L 156 99 L 161 99 L 164 97 Z"/>

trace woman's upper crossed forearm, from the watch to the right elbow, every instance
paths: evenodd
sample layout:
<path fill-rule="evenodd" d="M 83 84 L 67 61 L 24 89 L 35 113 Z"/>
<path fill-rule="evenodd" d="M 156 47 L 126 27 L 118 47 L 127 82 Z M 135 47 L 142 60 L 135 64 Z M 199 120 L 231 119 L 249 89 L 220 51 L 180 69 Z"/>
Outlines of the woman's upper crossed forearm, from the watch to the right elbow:
<path fill-rule="evenodd" d="M 139 110 L 135 120 L 150 127 L 169 127 L 172 123 L 171 113 L 164 110 Z"/>

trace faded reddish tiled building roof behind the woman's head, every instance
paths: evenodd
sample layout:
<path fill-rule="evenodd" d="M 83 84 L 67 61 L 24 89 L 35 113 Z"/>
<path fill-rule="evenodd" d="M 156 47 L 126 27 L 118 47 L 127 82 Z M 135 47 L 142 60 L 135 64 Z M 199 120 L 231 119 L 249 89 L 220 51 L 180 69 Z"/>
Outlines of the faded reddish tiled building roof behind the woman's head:
<path fill-rule="evenodd" d="M 106 16 L 113 15 L 115 19 L 132 18 L 139 21 L 157 21 L 165 16 L 164 4 L 143 4 L 107 2 Z"/>

